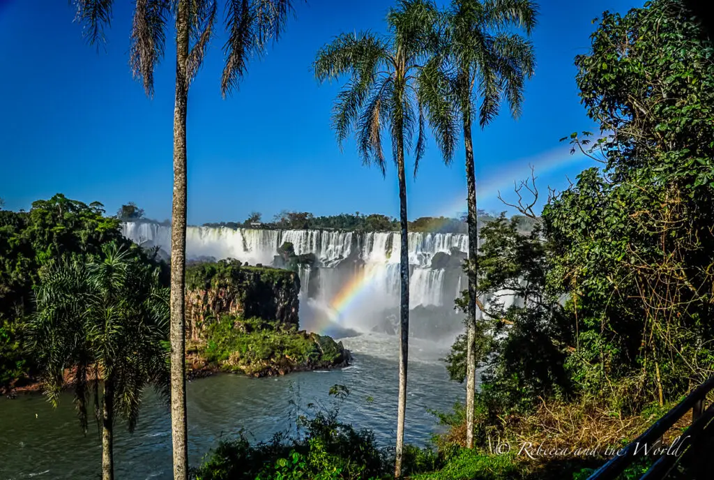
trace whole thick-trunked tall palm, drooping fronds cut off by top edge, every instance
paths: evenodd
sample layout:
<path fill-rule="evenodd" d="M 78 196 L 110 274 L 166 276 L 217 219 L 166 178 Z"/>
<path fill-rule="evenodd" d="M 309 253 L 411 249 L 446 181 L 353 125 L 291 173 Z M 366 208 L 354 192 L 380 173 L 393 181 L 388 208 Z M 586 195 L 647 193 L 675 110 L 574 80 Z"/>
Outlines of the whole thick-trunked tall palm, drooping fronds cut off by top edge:
<path fill-rule="evenodd" d="M 104 41 L 114 0 L 74 0 L 76 19 L 90 44 Z M 261 56 L 269 42 L 284 31 L 291 0 L 226 0 L 228 40 L 221 94 L 238 89 L 248 60 Z M 186 339 L 184 291 L 186 269 L 186 107 L 188 86 L 203 61 L 216 22 L 214 0 L 136 0 L 129 64 L 148 96 L 154 93 L 154 69 L 164 54 L 169 18 L 176 34 L 176 94 L 174 101 L 174 200 L 171 209 L 171 436 L 174 479 L 188 472 L 186 436 Z"/>

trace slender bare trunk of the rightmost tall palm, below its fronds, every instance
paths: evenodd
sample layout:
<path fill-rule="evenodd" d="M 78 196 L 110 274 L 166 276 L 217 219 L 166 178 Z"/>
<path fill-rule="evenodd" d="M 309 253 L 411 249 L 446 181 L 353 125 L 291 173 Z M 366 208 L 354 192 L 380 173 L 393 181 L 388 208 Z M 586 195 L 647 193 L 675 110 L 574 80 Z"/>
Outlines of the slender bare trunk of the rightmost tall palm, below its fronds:
<path fill-rule="evenodd" d="M 476 173 L 473 166 L 471 116 L 463 116 L 463 142 L 466 147 L 468 189 L 468 311 L 466 334 L 466 448 L 473 449 L 473 417 L 476 398 L 476 252 L 478 251 L 478 210 Z"/>

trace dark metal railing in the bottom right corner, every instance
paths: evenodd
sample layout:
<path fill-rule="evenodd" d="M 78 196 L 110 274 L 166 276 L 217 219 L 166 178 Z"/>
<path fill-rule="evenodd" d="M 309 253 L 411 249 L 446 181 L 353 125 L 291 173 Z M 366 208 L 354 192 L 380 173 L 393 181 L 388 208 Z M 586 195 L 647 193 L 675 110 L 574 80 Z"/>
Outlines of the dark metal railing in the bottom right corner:
<path fill-rule="evenodd" d="M 600 466 L 595 473 L 588 477 L 588 480 L 616 479 L 628 466 L 632 465 L 638 459 L 642 459 L 644 451 L 650 451 L 650 447 L 661 444 L 661 439 L 665 432 L 672 428 L 679 419 L 691 410 L 692 423 L 680 437 L 680 443 L 677 447 L 680 455 L 665 454 L 660 456 L 660 458 L 650 466 L 650 469 L 640 477 L 640 480 L 663 479 L 678 459 L 682 458 L 681 454 L 686 451 L 688 447 L 696 445 L 698 440 L 706 436 L 705 431 L 708 434 L 712 433 L 712 429 L 707 429 L 707 427 L 710 421 L 714 419 L 714 404 L 708 406 L 707 409 L 704 408 L 705 397 L 712 389 L 714 389 L 714 376 L 698 386 L 683 401 L 680 401 L 677 406 L 668 411 L 658 421 L 655 421 L 645 433 L 638 436 L 635 440 L 631 441 L 628 446 L 625 446 L 623 450 L 619 451 L 618 455 L 614 456 L 603 466 Z M 643 446 L 648 446 L 648 449 L 643 449 Z M 640 455 L 638 455 L 638 451 Z"/>

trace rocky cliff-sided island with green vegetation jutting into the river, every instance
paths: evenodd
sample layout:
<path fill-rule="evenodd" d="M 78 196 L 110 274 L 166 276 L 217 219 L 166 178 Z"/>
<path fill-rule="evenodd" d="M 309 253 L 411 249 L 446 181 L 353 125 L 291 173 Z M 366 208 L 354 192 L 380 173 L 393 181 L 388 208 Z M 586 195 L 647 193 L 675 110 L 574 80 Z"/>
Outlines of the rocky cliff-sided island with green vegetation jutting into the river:
<path fill-rule="evenodd" d="M 345 366 L 329 336 L 299 330 L 300 279 L 290 270 L 228 259 L 186 269 L 187 353 L 194 375 L 251 376 Z"/>

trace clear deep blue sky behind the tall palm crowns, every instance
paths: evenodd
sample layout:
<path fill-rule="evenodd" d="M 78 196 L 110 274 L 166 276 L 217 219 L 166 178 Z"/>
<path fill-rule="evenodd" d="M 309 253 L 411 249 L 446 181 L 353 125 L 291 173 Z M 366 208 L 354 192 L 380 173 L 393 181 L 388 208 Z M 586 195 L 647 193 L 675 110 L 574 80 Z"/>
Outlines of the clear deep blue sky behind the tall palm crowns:
<path fill-rule="evenodd" d="M 61 192 L 101 201 L 114 212 L 135 201 L 147 216 L 169 218 L 174 108 L 173 32 L 148 99 L 128 66 L 131 1 L 116 1 L 107 43 L 86 44 L 66 1 L 0 0 L 0 197 L 7 209 Z M 221 6 L 223 2 L 221 1 Z M 560 137 L 595 131 L 575 86 L 573 58 L 588 51 L 591 20 L 642 2 L 596 0 L 577 6 L 543 0 L 533 35 L 538 67 L 523 115 L 506 112 L 475 131 L 478 201 L 505 209 L 533 164 L 538 186 L 563 189 L 590 162 L 568 154 Z M 282 209 L 316 215 L 360 211 L 398 216 L 396 169 L 386 178 L 361 165 L 352 141 L 343 151 L 330 128 L 340 84 L 319 86 L 316 51 L 343 31 L 384 30 L 386 0 L 310 0 L 241 89 L 220 95 L 221 31 L 191 86 L 188 103 L 188 221 L 242 221 L 250 211 L 269 219 Z M 221 29 L 222 30 L 222 29 Z M 410 218 L 465 209 L 463 150 L 444 166 L 433 141 L 408 180 Z"/>

